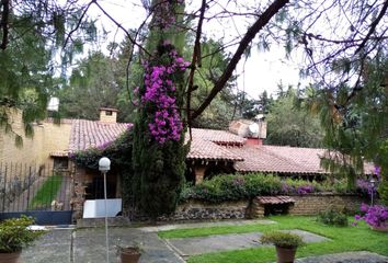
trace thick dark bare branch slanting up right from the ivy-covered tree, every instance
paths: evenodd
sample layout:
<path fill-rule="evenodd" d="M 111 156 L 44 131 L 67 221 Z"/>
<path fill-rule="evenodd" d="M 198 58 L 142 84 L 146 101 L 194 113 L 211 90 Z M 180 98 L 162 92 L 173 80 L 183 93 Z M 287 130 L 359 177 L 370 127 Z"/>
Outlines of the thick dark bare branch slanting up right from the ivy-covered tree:
<path fill-rule="evenodd" d="M 210 104 L 213 99 L 220 92 L 229 78 L 231 77 L 237 64 L 240 61 L 241 56 L 247 49 L 248 45 L 252 42 L 255 35 L 270 22 L 270 20 L 284 8 L 289 0 L 276 0 L 274 1 L 256 20 L 256 22 L 247 31 L 246 35 L 242 37 L 239 47 L 237 48 L 235 55 L 229 61 L 226 70 L 218 79 L 218 81 L 213 87 L 210 93 L 207 95 L 205 101 L 199 105 L 199 107 L 192 114 L 191 118 L 194 119 L 199 116 L 205 108 Z"/>

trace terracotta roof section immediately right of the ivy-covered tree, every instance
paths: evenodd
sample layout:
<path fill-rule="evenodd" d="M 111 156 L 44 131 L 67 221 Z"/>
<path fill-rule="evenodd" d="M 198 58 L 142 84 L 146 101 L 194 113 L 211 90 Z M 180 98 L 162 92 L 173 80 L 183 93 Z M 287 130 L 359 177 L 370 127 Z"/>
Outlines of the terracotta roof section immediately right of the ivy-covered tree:
<path fill-rule="evenodd" d="M 199 138 L 193 138 L 186 159 L 242 161 L 241 157 L 230 152 L 228 148 Z"/>

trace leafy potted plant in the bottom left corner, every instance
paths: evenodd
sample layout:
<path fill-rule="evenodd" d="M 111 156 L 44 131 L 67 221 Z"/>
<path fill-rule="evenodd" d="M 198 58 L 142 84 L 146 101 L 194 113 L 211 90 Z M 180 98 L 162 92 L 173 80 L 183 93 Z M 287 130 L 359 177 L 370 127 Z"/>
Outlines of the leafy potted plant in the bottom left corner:
<path fill-rule="evenodd" d="M 44 233 L 31 230 L 28 227 L 33 224 L 34 219 L 26 216 L 0 222 L 0 263 L 18 262 L 22 248 Z"/>

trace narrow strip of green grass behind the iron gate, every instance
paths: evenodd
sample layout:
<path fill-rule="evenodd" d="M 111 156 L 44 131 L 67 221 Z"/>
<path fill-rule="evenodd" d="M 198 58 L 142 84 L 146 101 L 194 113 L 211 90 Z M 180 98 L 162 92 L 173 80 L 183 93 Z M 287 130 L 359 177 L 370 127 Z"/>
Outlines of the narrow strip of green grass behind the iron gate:
<path fill-rule="evenodd" d="M 34 198 L 32 199 L 28 209 L 36 209 L 43 207 L 49 207 L 53 199 L 56 198 L 58 191 L 62 184 L 61 175 L 49 176 L 41 188 L 36 192 Z"/>

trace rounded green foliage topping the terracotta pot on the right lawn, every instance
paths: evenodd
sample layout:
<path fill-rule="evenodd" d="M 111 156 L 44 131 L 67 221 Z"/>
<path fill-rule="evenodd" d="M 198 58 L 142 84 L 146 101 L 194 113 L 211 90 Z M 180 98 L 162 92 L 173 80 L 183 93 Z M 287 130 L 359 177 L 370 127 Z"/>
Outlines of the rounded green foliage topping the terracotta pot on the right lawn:
<path fill-rule="evenodd" d="M 304 245 L 301 237 L 290 232 L 265 232 L 260 237 L 260 241 L 264 244 L 274 244 L 275 247 L 293 249 Z"/>

